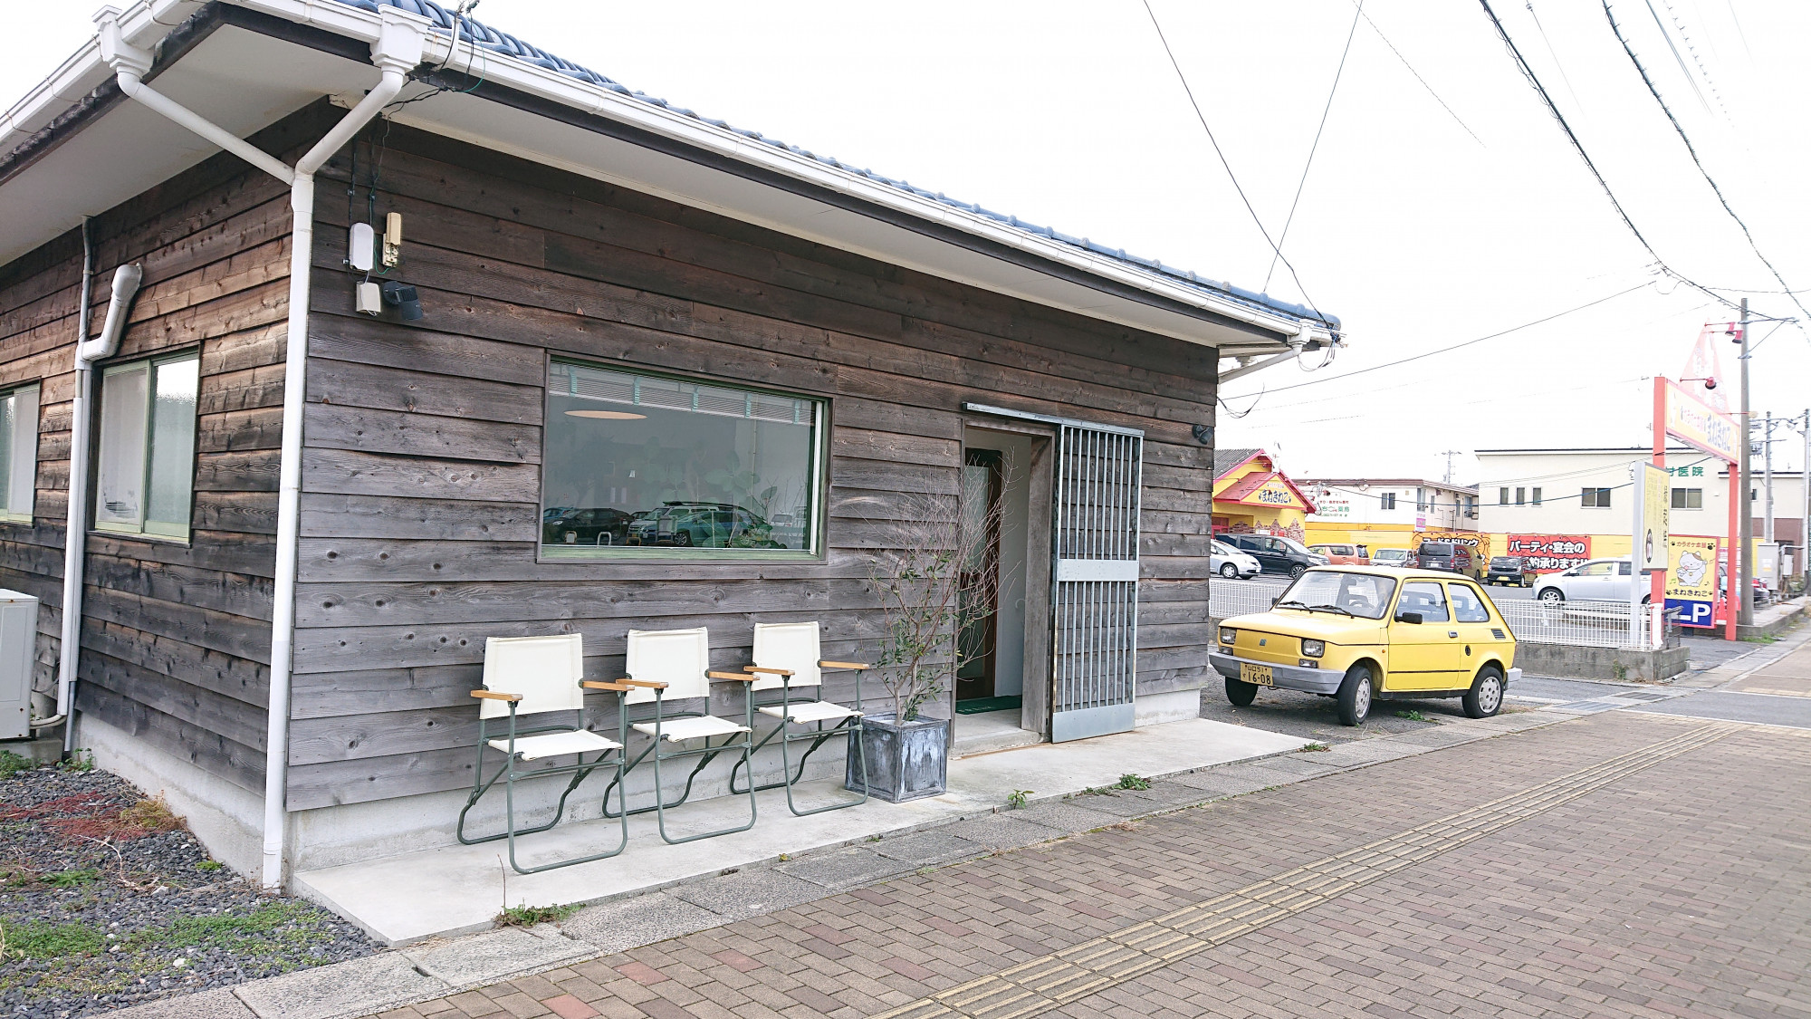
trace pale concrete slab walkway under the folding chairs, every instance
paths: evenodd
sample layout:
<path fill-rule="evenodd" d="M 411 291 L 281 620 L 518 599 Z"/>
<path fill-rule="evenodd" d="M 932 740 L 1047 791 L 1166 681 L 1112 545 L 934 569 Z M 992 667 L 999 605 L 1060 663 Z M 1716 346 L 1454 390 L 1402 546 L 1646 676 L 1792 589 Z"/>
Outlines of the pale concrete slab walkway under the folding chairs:
<path fill-rule="evenodd" d="M 1289 752 L 1304 743 L 1293 736 L 1195 718 L 1074 743 L 1038 743 L 958 758 L 949 765 L 947 794 L 909 803 L 869 801 L 795 818 L 786 809 L 784 791 L 771 791 L 761 794 L 752 830 L 686 845 L 663 843 L 654 816 L 643 814 L 630 820 L 628 849 L 621 856 L 545 874 L 505 874 L 503 845 L 485 843 L 306 870 L 295 876 L 293 885 L 297 894 L 353 919 L 373 937 L 406 945 L 489 930 L 503 905 L 596 903 L 817 849 L 991 814 L 1012 791 L 1032 791 L 1038 800 L 1059 798 L 1110 785 L 1125 772 L 1168 776 Z M 797 794 L 806 805 L 846 796 L 829 781 L 800 785 Z M 710 830 L 746 818 L 746 798 L 726 796 L 674 810 L 668 830 Z M 447 818 L 451 823 L 453 818 Z M 543 859 L 596 852 L 616 839 L 616 821 L 569 823 L 522 839 L 518 859 L 532 867 Z M 862 863 L 867 870 L 851 870 L 848 881 L 862 881 L 864 874 L 866 879 L 880 879 L 886 872 L 875 870 L 873 861 Z M 906 869 L 909 865 L 900 863 L 893 872 Z"/>

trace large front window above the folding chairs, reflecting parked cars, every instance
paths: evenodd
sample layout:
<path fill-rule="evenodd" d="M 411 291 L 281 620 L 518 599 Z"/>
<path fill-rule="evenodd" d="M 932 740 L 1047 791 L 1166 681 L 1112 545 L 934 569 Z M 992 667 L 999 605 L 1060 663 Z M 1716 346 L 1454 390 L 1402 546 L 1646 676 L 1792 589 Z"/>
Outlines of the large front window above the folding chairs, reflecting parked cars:
<path fill-rule="evenodd" d="M 554 361 L 543 553 L 817 555 L 824 410 L 786 393 Z"/>

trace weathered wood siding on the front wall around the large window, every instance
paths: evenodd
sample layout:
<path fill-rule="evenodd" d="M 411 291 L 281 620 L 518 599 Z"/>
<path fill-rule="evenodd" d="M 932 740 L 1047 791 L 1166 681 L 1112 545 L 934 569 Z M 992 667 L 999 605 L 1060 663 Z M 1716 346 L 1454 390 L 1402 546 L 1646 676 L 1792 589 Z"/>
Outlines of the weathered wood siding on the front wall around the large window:
<path fill-rule="evenodd" d="M 360 209 L 371 165 L 360 149 Z M 469 783 L 485 636 L 583 633 L 598 676 L 621 674 L 628 626 L 708 626 L 724 667 L 761 620 L 819 618 L 828 655 L 873 655 L 875 528 L 848 508 L 954 493 L 963 401 L 1146 430 L 1139 684 L 1199 685 L 1212 453 L 1190 426 L 1213 419 L 1213 350 L 404 127 L 378 190 L 426 317 L 351 312 L 346 209 L 322 199 L 292 809 Z M 828 562 L 536 562 L 549 354 L 828 397 Z"/>

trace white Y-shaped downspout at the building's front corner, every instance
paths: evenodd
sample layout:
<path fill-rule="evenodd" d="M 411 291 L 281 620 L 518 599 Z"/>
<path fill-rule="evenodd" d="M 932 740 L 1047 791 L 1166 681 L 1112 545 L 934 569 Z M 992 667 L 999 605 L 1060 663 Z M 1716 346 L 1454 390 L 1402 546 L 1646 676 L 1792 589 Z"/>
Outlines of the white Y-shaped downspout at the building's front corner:
<path fill-rule="evenodd" d="M 384 7 L 369 36 L 371 63 L 382 82 L 359 102 L 321 141 L 288 167 L 270 154 L 206 121 L 143 83 L 152 54 L 125 42 L 118 11 L 105 9 L 100 22 L 101 58 L 120 78 L 120 91 L 172 121 L 214 141 L 290 185 L 290 321 L 283 361 L 283 457 L 277 482 L 277 569 L 270 613 L 270 698 L 264 733 L 264 867 L 266 888 L 283 887 L 288 810 L 284 792 L 290 765 L 290 658 L 295 645 L 295 546 L 302 490 L 302 408 L 308 393 L 308 276 L 315 236 L 315 170 L 351 136 L 397 98 L 407 73 L 422 62 L 427 18 Z M 74 484 L 71 484 L 74 488 Z"/>

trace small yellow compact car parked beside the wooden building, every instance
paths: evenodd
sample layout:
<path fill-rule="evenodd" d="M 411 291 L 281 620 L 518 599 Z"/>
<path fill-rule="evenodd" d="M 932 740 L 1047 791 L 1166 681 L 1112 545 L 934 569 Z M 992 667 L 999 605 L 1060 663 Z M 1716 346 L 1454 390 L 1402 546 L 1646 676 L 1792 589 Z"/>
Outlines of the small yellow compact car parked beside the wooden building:
<path fill-rule="evenodd" d="M 1268 613 L 1221 624 L 1208 653 L 1226 700 L 1244 707 L 1259 687 L 1338 700 L 1360 725 L 1373 700 L 1465 698 L 1489 718 L 1521 680 L 1516 635 L 1476 582 L 1431 569 L 1317 566 Z"/>

